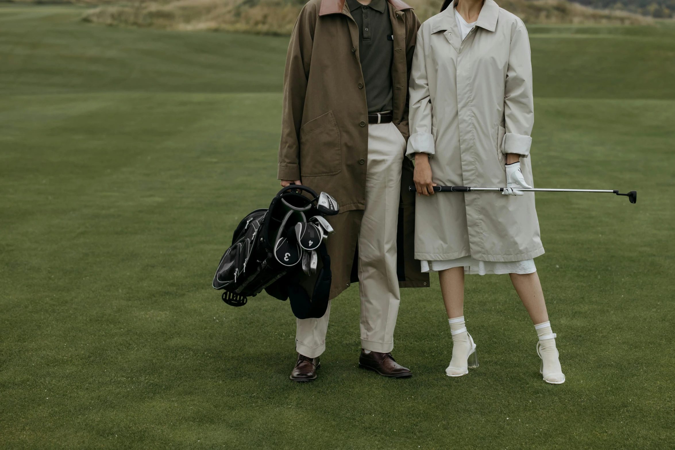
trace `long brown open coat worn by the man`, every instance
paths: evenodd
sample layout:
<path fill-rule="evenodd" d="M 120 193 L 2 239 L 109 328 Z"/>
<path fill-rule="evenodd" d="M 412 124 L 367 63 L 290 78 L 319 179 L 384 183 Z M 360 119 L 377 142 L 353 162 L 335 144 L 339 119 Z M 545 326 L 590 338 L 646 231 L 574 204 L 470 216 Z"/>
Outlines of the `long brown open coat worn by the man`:
<path fill-rule="evenodd" d="M 387 0 L 394 33 L 391 79 L 394 125 L 408 138 L 408 79 L 419 21 L 400 0 Z M 344 0 L 310 0 L 295 24 L 284 74 L 278 178 L 300 179 L 338 200 L 340 214 L 327 217 L 333 280 L 330 298 L 358 281 L 354 255 L 365 208 L 368 108 L 358 53 L 358 27 Z M 398 220 L 401 287 L 429 286 L 414 260 L 412 163 L 405 159 Z M 306 288 L 313 280 L 306 280 Z M 311 292 L 311 291 L 310 291 Z"/>

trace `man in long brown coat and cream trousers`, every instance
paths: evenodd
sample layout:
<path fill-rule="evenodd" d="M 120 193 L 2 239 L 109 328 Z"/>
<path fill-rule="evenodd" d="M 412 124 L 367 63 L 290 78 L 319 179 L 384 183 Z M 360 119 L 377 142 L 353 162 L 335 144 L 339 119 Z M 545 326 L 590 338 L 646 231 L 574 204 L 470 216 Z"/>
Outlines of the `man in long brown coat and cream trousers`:
<path fill-rule="evenodd" d="M 401 0 L 310 0 L 293 30 L 278 178 L 331 194 L 327 217 L 333 299 L 359 281 L 359 364 L 385 376 L 410 370 L 391 358 L 399 287 L 428 287 L 414 260 L 408 80 L 420 23 Z M 307 287 L 313 280 L 306 281 Z M 311 289 L 309 289 L 311 293 Z M 330 314 L 298 319 L 290 378 L 316 378 Z"/>

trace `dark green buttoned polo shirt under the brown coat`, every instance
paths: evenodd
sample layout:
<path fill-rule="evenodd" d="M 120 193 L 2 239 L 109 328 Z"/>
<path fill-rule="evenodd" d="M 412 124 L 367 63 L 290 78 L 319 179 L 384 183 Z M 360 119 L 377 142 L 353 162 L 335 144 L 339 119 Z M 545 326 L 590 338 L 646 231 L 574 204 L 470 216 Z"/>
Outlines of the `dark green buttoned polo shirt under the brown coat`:
<path fill-rule="evenodd" d="M 373 0 L 369 5 L 347 0 L 347 5 L 358 25 L 358 53 L 368 112 L 391 111 L 394 108 L 391 86 L 394 40 L 387 0 Z"/>

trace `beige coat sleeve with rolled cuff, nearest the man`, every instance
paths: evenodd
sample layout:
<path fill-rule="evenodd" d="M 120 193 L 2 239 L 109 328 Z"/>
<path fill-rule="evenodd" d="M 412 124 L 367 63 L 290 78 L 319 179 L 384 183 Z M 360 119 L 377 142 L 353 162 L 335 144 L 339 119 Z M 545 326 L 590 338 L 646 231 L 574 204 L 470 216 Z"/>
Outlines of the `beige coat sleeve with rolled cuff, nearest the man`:
<path fill-rule="evenodd" d="M 410 71 L 410 138 L 406 156 L 414 159 L 415 153 L 435 154 L 435 143 L 431 134 L 431 96 L 429 94 L 429 80 L 427 80 L 427 65 L 425 62 L 425 45 L 423 30 L 417 33 L 415 53 L 412 57 Z"/>

